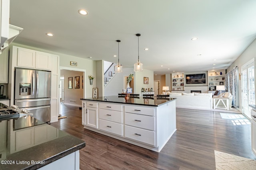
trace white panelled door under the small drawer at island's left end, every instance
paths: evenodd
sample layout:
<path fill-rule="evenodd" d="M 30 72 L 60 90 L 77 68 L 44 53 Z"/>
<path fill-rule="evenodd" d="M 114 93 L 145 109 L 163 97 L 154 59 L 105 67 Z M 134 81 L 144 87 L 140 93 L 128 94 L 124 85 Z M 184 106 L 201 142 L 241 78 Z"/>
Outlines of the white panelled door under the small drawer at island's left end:
<path fill-rule="evenodd" d="M 98 109 L 94 107 L 86 107 L 86 125 L 98 128 Z"/>

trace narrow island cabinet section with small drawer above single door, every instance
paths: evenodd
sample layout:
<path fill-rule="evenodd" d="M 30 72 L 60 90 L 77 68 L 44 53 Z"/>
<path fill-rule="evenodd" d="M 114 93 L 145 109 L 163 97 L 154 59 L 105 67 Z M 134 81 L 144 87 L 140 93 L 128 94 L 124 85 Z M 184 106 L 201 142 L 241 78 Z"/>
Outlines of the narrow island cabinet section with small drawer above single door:
<path fill-rule="evenodd" d="M 98 103 L 86 102 L 86 125 L 98 128 Z"/>

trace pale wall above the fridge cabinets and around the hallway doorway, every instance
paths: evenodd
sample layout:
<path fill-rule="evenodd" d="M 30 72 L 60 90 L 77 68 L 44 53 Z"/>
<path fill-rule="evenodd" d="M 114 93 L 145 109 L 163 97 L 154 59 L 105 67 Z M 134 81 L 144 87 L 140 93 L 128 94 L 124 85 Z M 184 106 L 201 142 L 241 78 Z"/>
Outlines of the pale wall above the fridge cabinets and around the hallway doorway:
<path fill-rule="evenodd" d="M 86 75 L 84 76 L 84 88 L 86 89 L 86 92 L 85 92 L 86 95 L 84 96 L 84 98 L 92 97 L 92 88 L 95 86 L 95 84 L 93 84 L 92 86 L 90 85 L 88 75 L 91 74 L 91 75 L 95 76 L 95 73 L 96 73 L 96 70 L 95 70 L 96 62 L 95 61 L 83 59 L 83 58 L 72 56 L 72 55 L 66 55 L 66 54 L 58 53 L 58 52 L 54 52 L 54 51 L 39 49 L 36 47 L 27 46 L 27 45 L 22 45 L 22 44 L 17 44 L 17 43 L 10 44 L 10 46 L 13 46 L 13 45 L 15 45 L 17 47 L 23 47 L 23 48 L 27 48 L 27 49 L 32 49 L 32 50 L 36 50 L 36 51 L 42 51 L 45 53 L 59 55 L 60 56 L 60 66 L 68 67 L 68 68 L 70 68 L 70 70 L 72 70 L 72 68 L 80 68 L 80 69 L 86 70 Z M 77 66 L 71 66 L 70 61 L 77 62 Z M 95 83 L 95 81 L 94 81 L 94 83 Z"/>

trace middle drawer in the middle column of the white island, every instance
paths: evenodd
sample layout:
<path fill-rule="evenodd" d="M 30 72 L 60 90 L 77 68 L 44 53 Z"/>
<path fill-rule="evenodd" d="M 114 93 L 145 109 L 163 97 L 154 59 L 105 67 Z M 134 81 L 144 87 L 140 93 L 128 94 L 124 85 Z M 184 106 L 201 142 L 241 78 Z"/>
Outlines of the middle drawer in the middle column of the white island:
<path fill-rule="evenodd" d="M 117 123 L 123 123 L 122 111 L 114 111 L 108 109 L 99 109 L 99 118 Z"/>

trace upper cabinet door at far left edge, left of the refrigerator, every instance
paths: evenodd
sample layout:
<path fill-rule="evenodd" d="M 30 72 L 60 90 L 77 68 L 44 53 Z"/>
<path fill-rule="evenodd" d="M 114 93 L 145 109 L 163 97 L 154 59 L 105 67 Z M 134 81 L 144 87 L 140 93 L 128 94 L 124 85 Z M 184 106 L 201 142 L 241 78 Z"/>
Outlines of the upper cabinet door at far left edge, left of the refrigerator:
<path fill-rule="evenodd" d="M 0 83 L 8 83 L 8 48 L 0 55 Z"/>

